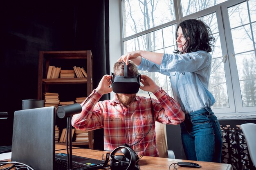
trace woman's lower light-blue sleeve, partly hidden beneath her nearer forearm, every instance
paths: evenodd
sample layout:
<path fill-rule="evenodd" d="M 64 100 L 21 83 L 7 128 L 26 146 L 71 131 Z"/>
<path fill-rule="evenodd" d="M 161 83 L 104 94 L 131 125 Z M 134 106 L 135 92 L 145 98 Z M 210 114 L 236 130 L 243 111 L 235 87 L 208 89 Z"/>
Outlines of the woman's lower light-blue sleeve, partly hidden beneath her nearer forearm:
<path fill-rule="evenodd" d="M 150 60 L 147 60 L 147 59 L 144 59 L 143 57 L 141 57 L 141 63 L 140 65 L 138 66 L 138 70 L 142 70 L 142 71 L 145 71 L 147 70 L 148 72 L 159 72 L 159 73 L 162 73 L 166 76 L 170 76 L 170 72 L 161 72 L 160 71 L 160 65 L 150 61 Z"/>

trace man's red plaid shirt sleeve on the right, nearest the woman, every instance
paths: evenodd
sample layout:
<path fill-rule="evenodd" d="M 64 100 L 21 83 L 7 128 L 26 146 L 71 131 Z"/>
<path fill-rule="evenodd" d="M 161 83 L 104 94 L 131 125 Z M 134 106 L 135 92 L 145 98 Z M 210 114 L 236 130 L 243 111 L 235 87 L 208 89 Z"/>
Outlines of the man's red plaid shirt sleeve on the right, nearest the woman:
<path fill-rule="evenodd" d="M 155 104 L 155 115 L 157 122 L 163 124 L 180 124 L 185 119 L 180 104 L 171 98 L 162 87 L 159 88 L 154 95 L 159 101 Z"/>

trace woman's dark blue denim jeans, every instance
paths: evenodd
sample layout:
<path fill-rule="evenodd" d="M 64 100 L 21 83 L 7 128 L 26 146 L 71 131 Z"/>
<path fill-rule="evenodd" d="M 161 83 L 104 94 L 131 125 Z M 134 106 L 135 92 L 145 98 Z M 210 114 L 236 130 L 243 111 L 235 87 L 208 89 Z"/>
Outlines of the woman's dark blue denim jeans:
<path fill-rule="evenodd" d="M 220 124 L 210 107 L 186 114 L 180 127 L 182 144 L 188 160 L 221 161 Z"/>

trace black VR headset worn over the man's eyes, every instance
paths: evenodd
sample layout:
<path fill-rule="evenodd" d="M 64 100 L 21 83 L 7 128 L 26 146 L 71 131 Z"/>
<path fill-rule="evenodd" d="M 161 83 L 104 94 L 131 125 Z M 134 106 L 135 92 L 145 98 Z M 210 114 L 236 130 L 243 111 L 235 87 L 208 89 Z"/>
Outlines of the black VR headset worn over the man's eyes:
<path fill-rule="evenodd" d="M 121 94 L 136 94 L 139 91 L 141 74 L 128 77 L 128 68 L 124 64 L 124 76 L 115 76 L 112 73 L 111 86 L 113 92 Z"/>

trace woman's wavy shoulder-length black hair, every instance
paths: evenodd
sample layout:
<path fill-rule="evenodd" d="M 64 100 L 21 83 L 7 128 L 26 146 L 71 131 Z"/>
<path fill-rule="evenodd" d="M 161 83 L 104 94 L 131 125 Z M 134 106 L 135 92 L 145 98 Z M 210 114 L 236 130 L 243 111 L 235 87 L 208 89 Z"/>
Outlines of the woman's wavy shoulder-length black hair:
<path fill-rule="evenodd" d="M 199 50 L 212 51 L 211 47 L 215 42 L 215 38 L 212 36 L 211 29 L 207 24 L 196 19 L 184 20 L 177 26 L 176 39 L 179 27 L 182 28 L 183 36 L 186 39 L 186 47 L 183 49 L 185 53 Z M 174 50 L 174 53 L 181 54 L 183 52 Z"/>

